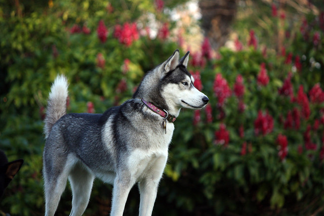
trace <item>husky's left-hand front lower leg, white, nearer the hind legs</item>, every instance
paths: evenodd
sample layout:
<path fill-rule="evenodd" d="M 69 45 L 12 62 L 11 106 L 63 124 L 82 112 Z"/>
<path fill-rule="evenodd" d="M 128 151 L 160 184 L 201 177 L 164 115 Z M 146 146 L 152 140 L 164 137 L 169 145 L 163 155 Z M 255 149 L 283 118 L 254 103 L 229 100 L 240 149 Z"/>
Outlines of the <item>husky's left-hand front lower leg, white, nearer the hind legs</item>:
<path fill-rule="evenodd" d="M 135 182 L 129 176 L 116 177 L 112 189 L 111 216 L 123 216 L 128 194 Z"/>

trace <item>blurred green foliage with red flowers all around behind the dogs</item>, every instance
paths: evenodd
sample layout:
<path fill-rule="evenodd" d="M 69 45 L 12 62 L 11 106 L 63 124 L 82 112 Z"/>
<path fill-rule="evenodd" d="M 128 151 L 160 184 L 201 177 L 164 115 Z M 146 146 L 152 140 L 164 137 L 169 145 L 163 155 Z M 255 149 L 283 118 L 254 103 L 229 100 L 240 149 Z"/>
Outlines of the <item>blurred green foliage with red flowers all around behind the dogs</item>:
<path fill-rule="evenodd" d="M 199 6 L 201 15 L 187 13 Z M 153 215 L 324 212 L 322 1 L 0 0 L 0 148 L 25 160 L 3 196 L 11 215 L 44 214 L 43 119 L 57 74 L 68 112 L 102 113 L 146 71 L 190 50 L 204 110 L 183 110 Z M 96 180 L 85 215 L 108 215 Z M 132 189 L 125 215 L 138 214 Z M 57 215 L 69 214 L 67 187 Z"/>

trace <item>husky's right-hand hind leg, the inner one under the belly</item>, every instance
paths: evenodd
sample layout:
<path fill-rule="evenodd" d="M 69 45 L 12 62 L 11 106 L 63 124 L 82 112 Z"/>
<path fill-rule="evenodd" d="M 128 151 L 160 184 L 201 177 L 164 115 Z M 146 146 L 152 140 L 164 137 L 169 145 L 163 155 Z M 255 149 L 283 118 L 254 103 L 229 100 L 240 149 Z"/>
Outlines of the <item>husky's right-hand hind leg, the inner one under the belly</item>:
<path fill-rule="evenodd" d="M 82 215 L 89 203 L 94 176 L 82 164 L 77 164 L 70 172 L 72 189 L 72 210 L 70 216 Z"/>

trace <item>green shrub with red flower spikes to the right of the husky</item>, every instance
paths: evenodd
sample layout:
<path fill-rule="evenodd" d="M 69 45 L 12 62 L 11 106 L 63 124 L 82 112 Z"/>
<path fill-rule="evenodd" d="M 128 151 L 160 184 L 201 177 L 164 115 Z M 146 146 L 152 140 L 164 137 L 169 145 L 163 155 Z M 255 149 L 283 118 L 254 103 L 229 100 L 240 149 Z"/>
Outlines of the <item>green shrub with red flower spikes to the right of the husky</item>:
<path fill-rule="evenodd" d="M 272 16 L 278 16 L 274 6 Z M 282 13 L 278 18 L 287 19 Z M 211 108 L 206 110 L 212 110 L 213 120 L 201 112 L 193 127 L 176 125 L 180 132 L 176 130 L 175 139 L 183 137 L 181 131 L 192 133 L 184 136 L 187 151 L 197 153 L 179 158 L 183 147 L 172 147 L 171 160 L 180 162 L 171 163 L 167 174 L 187 185 L 191 183 L 186 178 L 199 176 L 199 189 L 190 190 L 203 191 L 201 196 L 208 198 L 217 214 L 321 211 L 324 62 L 318 47 L 324 40 L 317 39 L 317 32 L 323 33 L 318 20 L 302 19 L 300 25 L 304 29 L 307 23 L 307 31 L 288 38 L 290 47 L 278 53 L 262 48 L 256 39 L 260 35 L 251 30 L 246 44 L 235 38 L 234 51 L 223 48 L 218 59 L 203 55 L 205 41 L 201 54 L 195 53 L 190 61 L 200 68 L 203 91 L 210 97 Z M 198 56 L 206 64 L 200 66 Z M 198 208 L 198 200 L 204 200 L 188 200 L 185 192 L 181 194 L 188 208 L 189 203 Z"/>

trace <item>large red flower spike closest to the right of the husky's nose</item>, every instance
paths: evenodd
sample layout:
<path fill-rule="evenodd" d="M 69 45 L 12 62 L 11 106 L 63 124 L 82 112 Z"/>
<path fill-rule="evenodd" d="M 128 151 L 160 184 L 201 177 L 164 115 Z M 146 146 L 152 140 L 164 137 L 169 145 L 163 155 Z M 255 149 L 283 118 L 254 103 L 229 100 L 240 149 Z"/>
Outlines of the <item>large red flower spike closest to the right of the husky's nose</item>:
<path fill-rule="evenodd" d="M 231 90 L 227 84 L 225 78 L 222 77 L 221 73 L 216 74 L 214 80 L 214 93 L 218 98 L 218 105 L 223 106 L 225 100 L 231 95 Z"/>

